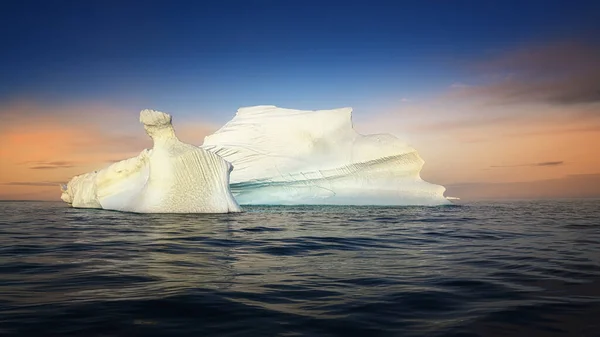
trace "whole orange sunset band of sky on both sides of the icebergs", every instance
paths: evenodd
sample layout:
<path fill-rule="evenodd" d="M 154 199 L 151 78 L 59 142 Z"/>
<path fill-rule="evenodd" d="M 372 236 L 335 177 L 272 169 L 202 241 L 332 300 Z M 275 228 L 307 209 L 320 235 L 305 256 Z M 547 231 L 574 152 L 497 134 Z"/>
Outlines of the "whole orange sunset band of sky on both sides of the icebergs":
<path fill-rule="evenodd" d="M 58 200 L 59 182 L 151 146 L 135 112 L 96 107 L 105 111 L 99 122 L 70 118 L 77 107 L 60 108 L 62 112 L 52 119 L 41 117 L 47 116 L 45 108 L 30 105 L 28 109 L 32 113 L 0 127 L 2 199 Z M 410 118 L 402 123 L 403 113 L 414 109 L 414 105 L 398 108 L 392 116 L 381 114 L 356 127 L 363 133 L 386 131 L 408 138 L 425 159 L 424 179 L 447 186 L 447 195 L 464 199 L 600 196 L 600 128 L 589 121 L 554 120 L 547 117 L 550 107 L 538 107 L 545 114 L 538 122 L 448 124 L 444 130 L 437 124 L 419 126 L 418 118 L 414 124 L 408 123 Z M 180 138 L 194 144 L 201 144 L 216 129 L 199 122 L 178 123 L 176 113 L 174 124 Z M 577 175 L 589 175 L 585 189 L 581 179 L 565 183 Z M 530 184 L 536 181 L 544 183 Z"/>

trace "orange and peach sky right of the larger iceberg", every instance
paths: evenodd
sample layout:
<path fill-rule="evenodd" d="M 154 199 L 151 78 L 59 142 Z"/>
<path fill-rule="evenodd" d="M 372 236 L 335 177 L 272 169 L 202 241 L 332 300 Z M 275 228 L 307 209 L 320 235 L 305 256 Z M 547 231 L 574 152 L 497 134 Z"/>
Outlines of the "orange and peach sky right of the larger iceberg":
<path fill-rule="evenodd" d="M 600 105 L 594 108 L 600 112 Z M 414 106 L 407 106 L 358 128 L 403 135 L 425 160 L 422 177 L 446 186 L 449 196 L 469 200 L 600 196 L 598 121 L 552 117 L 553 108 L 547 106 L 506 109 L 537 109 L 542 117 L 524 121 L 527 117 L 520 115 L 476 126 L 465 119 L 464 125 L 436 122 L 420 127 L 418 117 L 411 122 L 402 116 L 419 116 L 424 111 L 415 112 Z M 428 113 L 434 114 L 435 109 Z M 565 183 L 578 175 L 588 175 L 584 189 L 581 179 L 577 184 Z M 544 183 L 530 184 L 535 181 Z"/>

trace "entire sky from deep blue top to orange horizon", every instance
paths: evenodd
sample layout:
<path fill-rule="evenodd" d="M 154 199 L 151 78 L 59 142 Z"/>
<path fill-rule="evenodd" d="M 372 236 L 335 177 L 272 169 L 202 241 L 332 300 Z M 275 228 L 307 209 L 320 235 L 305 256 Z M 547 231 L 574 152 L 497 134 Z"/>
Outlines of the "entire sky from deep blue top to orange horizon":
<path fill-rule="evenodd" d="M 600 196 L 598 1 L 12 1 L 0 13 L 0 199 L 239 107 L 352 107 L 466 200 Z"/>

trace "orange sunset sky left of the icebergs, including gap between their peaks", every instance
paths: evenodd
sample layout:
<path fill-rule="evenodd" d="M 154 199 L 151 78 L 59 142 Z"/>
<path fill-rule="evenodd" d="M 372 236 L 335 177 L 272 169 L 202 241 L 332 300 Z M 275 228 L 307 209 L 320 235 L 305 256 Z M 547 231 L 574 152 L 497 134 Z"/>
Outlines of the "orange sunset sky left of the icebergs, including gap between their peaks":
<path fill-rule="evenodd" d="M 59 200 L 59 183 L 152 146 L 135 111 L 18 103 L 0 107 L 0 114 L 5 116 L 0 125 L 0 200 Z M 175 121 L 175 127 L 180 139 L 198 145 L 216 130 L 193 121 L 179 126 Z"/>

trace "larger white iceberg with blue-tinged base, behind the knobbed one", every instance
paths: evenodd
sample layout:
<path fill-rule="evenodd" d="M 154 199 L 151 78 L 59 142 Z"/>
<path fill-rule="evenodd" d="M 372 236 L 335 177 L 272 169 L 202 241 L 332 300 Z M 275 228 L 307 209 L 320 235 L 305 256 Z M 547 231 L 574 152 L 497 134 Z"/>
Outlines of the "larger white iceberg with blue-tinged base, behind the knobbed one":
<path fill-rule="evenodd" d="M 447 204 L 444 187 L 423 181 L 423 160 L 387 134 L 360 135 L 351 108 L 241 108 L 204 140 L 235 169 L 240 204 Z"/>

